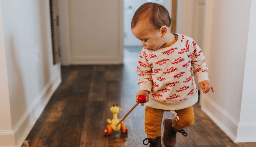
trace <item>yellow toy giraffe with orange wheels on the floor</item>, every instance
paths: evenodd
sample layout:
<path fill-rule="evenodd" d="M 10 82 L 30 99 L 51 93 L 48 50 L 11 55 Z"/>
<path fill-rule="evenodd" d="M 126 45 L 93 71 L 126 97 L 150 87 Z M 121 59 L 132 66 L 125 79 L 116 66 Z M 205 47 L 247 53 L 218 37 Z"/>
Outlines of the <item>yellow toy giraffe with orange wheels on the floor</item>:
<path fill-rule="evenodd" d="M 104 133 L 104 136 L 107 136 L 107 135 L 111 135 L 112 134 L 112 130 L 113 131 L 119 131 L 121 129 L 121 133 L 126 133 L 128 131 L 128 129 L 125 128 L 125 125 L 123 123 L 121 124 L 118 124 L 118 122 L 121 120 L 121 119 L 118 119 L 117 118 L 117 113 L 119 113 L 119 111 L 121 111 L 122 109 L 118 107 L 118 105 L 113 105 L 111 108 L 110 108 L 110 111 L 111 113 L 113 113 L 113 119 L 110 120 L 110 119 L 107 119 L 107 122 L 110 124 L 110 125 L 107 125 L 107 128 L 105 128 L 103 131 L 105 132 Z M 118 125 L 117 125 L 118 124 Z M 117 125 L 117 126 L 116 126 Z"/>

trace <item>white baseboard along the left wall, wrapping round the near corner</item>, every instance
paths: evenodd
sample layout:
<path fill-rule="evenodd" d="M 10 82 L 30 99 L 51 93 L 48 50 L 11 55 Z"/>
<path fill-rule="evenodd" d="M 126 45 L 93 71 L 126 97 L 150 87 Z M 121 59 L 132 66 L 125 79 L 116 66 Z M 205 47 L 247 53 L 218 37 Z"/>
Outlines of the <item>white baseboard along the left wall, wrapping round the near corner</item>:
<path fill-rule="evenodd" d="M 45 85 L 27 111 L 14 126 L 14 129 L 0 130 L 0 147 L 20 147 L 23 144 L 60 83 L 61 76 L 58 72 L 55 78 Z M 4 141 L 2 142 L 2 140 Z"/>

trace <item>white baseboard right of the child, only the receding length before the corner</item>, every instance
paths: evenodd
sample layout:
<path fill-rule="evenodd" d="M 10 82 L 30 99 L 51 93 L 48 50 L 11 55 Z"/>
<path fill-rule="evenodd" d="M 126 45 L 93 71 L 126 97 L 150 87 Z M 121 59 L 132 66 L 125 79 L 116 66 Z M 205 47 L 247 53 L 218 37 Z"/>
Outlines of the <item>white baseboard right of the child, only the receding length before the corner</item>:
<path fill-rule="evenodd" d="M 238 128 L 238 121 L 226 110 L 216 104 L 211 98 L 202 96 L 201 109 L 220 129 L 235 142 Z"/>

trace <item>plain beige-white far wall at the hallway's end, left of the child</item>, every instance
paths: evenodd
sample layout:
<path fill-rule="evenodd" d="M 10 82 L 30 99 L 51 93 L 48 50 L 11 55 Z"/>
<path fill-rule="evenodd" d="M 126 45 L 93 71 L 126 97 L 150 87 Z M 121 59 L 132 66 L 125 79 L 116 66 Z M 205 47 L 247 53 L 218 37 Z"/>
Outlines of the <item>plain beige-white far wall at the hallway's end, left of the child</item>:
<path fill-rule="evenodd" d="M 123 1 L 73 0 L 68 8 L 71 64 L 123 63 Z"/>

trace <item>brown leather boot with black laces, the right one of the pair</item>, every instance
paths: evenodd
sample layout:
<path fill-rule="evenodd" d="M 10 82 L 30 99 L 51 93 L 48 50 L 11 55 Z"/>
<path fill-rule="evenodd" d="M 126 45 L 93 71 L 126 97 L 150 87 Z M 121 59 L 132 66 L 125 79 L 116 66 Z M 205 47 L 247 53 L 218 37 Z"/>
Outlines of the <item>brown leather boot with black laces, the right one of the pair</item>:
<path fill-rule="evenodd" d="M 180 132 L 183 136 L 188 136 L 188 134 L 182 130 L 176 130 L 172 127 L 172 119 L 164 119 L 164 134 L 163 143 L 165 147 L 173 147 L 176 143 L 176 133 Z"/>

